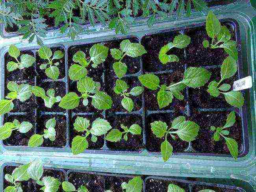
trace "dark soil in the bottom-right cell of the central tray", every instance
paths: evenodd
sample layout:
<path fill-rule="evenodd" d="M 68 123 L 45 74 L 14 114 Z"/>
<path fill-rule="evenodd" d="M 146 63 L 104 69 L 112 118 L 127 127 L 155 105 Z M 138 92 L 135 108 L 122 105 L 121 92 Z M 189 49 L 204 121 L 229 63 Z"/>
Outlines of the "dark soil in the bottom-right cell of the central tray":
<path fill-rule="evenodd" d="M 200 153 L 221 153 L 230 154 L 224 138 L 219 141 L 213 140 L 214 132 L 210 130 L 211 126 L 223 127 L 230 111 L 212 111 L 198 112 L 193 111 L 192 119 L 200 126 L 196 140 L 192 141 L 193 148 Z M 227 128 L 230 134 L 227 137 L 234 138 L 238 143 L 238 150 L 242 150 L 242 127 L 241 119 L 236 114 L 236 123 L 234 126 Z"/>

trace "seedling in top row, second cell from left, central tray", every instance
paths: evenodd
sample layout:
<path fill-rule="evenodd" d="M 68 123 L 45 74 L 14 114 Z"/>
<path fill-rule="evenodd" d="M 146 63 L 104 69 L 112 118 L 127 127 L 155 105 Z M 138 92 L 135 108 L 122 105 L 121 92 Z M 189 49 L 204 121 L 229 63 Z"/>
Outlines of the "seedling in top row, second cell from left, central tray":
<path fill-rule="evenodd" d="M 52 50 L 50 48 L 47 46 L 41 46 L 41 48 L 38 50 L 38 54 L 42 59 L 47 60 L 47 63 L 40 65 L 40 69 L 45 69 L 45 74 L 47 77 L 54 80 L 58 79 L 59 68 L 57 66 L 59 65 L 59 62 L 54 63 L 53 60 L 61 59 L 64 56 L 63 52 L 58 50 L 54 52 L 52 56 Z"/>

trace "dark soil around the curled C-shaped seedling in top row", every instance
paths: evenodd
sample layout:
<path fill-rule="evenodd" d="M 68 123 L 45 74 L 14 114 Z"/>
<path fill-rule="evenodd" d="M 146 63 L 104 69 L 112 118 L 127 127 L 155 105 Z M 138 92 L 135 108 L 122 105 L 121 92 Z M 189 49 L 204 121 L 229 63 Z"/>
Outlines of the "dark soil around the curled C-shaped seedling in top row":
<path fill-rule="evenodd" d="M 179 57 L 180 61 L 167 63 L 163 65 L 159 58 L 160 49 L 167 45 L 169 42 L 173 42 L 174 37 L 179 35 L 178 31 L 171 31 L 165 33 L 158 33 L 153 35 L 146 35 L 142 38 L 141 44 L 145 46 L 147 53 L 142 55 L 143 70 L 144 72 L 155 72 L 163 70 L 176 70 L 184 68 L 185 58 L 184 49 L 172 48 L 167 54 L 174 54 Z"/>

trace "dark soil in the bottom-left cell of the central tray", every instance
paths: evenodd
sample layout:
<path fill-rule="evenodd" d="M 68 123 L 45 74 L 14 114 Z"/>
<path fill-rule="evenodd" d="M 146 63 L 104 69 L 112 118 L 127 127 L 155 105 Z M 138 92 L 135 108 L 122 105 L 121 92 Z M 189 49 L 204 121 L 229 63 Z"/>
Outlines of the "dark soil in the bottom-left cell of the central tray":
<path fill-rule="evenodd" d="M 28 140 L 35 133 L 35 118 L 33 115 L 11 115 L 4 116 L 4 123 L 13 122 L 13 120 L 19 120 L 19 122 L 28 121 L 33 127 L 27 133 L 20 133 L 18 130 L 14 130 L 11 133 L 11 136 L 6 140 L 3 140 L 6 146 L 28 146 Z"/>

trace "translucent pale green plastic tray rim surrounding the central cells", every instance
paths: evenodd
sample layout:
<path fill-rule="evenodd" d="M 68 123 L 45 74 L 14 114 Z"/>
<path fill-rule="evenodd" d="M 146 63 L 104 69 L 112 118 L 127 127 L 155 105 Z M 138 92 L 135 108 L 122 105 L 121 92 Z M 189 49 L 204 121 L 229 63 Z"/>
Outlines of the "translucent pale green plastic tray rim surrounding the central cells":
<path fill-rule="evenodd" d="M 149 153 L 143 151 L 107 151 L 107 150 L 88 150 L 79 155 L 72 155 L 67 148 L 26 148 L 2 146 L 2 159 L 30 161 L 33 157 L 41 157 L 44 162 L 54 166 L 57 162 L 65 162 L 65 165 L 74 168 L 86 170 L 98 170 L 104 172 L 117 172 L 128 174 L 147 174 L 147 175 L 194 175 L 195 177 L 219 177 L 219 178 L 237 178 L 248 181 L 251 185 L 256 185 L 256 167 L 255 167 L 255 10 L 249 2 L 236 2 L 227 6 L 217 6 L 211 8 L 219 19 L 234 20 L 239 28 L 241 44 L 240 50 L 241 70 L 245 76 L 250 75 L 253 79 L 253 87 L 245 91 L 246 104 L 240 116 L 245 115 L 243 119 L 246 125 L 243 129 L 245 140 L 247 142 L 247 152 L 234 160 L 229 155 L 203 155 L 198 153 L 174 153 L 167 162 L 163 162 L 159 153 Z M 254 20 L 253 20 L 254 18 Z M 50 31 L 45 39 L 45 44 L 51 47 L 63 47 L 65 57 L 67 50 L 72 45 L 89 44 L 93 42 L 102 42 L 112 39 L 123 39 L 137 37 L 141 40 L 145 34 L 153 34 L 166 31 L 182 31 L 187 28 L 193 28 L 204 25 L 205 16 L 200 13 L 193 13 L 190 18 L 181 17 L 174 20 L 170 16 L 168 20 L 160 20 L 148 29 L 145 21 L 139 19 L 134 26 L 131 26 L 128 35 L 115 35 L 113 31 L 107 28 L 97 26 L 96 29 L 89 29 L 90 33 L 84 33 L 76 41 L 70 41 L 65 34 L 59 34 L 57 31 Z M 100 41 L 99 41 L 100 40 Z M 10 44 L 15 44 L 21 50 L 37 50 L 37 45 L 28 44 L 20 40 L 19 37 L 1 39 L 1 98 L 4 97 L 4 55 Z M 67 62 L 67 59 L 65 60 Z M 66 65 L 67 66 L 67 65 Z M 67 68 L 66 74 L 67 76 Z M 241 77 L 241 76 L 239 76 Z M 68 117 L 68 112 L 62 112 Z M 143 113 L 143 112 L 142 112 Z M 3 121 L 3 119 L 2 119 Z M 67 131 L 67 134 L 69 131 Z M 69 137 L 67 136 L 67 140 Z M 67 142 L 68 144 L 68 142 Z M 11 161 L 12 161 L 11 160 Z"/>

